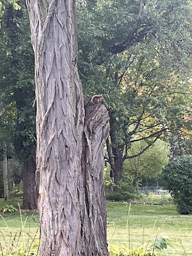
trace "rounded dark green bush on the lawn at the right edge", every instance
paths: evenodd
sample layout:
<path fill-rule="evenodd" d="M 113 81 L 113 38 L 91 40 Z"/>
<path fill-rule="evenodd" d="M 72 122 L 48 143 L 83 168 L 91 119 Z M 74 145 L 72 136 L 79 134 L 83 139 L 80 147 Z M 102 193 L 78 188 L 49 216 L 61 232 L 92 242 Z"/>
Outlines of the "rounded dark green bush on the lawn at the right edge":
<path fill-rule="evenodd" d="M 192 156 L 175 157 L 163 170 L 166 189 L 174 197 L 180 214 L 192 213 Z"/>

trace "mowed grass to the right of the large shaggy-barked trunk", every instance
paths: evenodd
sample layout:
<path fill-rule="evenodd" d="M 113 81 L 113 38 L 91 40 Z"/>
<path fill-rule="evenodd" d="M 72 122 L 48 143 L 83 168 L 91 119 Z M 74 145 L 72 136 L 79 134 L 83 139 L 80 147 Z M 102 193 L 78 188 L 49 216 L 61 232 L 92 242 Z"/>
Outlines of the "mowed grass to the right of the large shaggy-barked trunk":
<path fill-rule="evenodd" d="M 179 215 L 174 206 L 108 203 L 108 244 L 138 248 L 156 237 L 171 240 L 159 256 L 192 255 L 192 216 Z"/>

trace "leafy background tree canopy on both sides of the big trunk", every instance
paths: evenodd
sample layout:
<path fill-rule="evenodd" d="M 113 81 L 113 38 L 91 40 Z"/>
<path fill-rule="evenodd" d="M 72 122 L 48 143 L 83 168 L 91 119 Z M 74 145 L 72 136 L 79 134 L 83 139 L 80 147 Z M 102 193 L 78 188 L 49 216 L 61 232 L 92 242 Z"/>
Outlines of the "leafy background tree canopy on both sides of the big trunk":
<path fill-rule="evenodd" d="M 24 1 L 19 6 L 2 3 L 1 109 L 6 111 L 1 115 L 1 145 L 2 150 L 5 143 L 14 145 L 27 179 L 27 172 L 33 175 L 35 170 L 36 141 L 29 19 Z M 80 78 L 87 97 L 105 98 L 110 115 L 105 159 L 111 164 L 115 156 L 111 168 L 118 184 L 126 159 L 170 134 L 190 136 L 191 7 L 188 1 L 174 0 L 80 1 L 77 14 Z M 132 154 L 131 145 L 139 141 L 145 147 Z M 9 148 L 6 154 L 13 155 Z"/>

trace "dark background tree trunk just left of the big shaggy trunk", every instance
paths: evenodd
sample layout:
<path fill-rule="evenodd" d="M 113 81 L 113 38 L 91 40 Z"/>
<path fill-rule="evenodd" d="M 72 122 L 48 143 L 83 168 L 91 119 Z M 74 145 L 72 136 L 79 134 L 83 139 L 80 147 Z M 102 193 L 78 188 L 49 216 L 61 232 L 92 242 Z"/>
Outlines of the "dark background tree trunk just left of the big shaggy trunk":
<path fill-rule="evenodd" d="M 34 159 L 31 159 L 24 164 L 22 172 L 23 184 L 24 184 L 24 198 L 22 209 L 37 209 L 37 200 L 35 191 L 35 171 L 36 164 Z"/>

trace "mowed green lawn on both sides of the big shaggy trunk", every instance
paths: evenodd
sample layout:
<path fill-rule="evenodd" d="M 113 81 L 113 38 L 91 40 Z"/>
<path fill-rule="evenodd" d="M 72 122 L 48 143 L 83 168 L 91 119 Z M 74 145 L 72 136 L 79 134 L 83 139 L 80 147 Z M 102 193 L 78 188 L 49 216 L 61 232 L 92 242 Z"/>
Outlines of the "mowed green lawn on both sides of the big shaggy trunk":
<path fill-rule="evenodd" d="M 5 204 L 15 202 L 0 200 L 0 209 Z M 38 212 L 1 212 L 1 216 L 1 244 L 8 246 L 13 239 L 15 243 L 31 243 L 34 236 L 34 240 L 38 240 Z M 189 256 L 192 255 L 192 216 L 179 215 L 174 206 L 108 202 L 107 236 L 108 244 L 128 248 L 138 248 L 156 237 L 168 236 L 172 246 L 159 252 L 159 256 L 183 256 L 185 253 Z"/>

